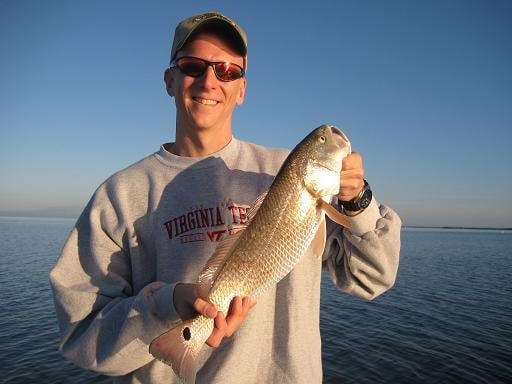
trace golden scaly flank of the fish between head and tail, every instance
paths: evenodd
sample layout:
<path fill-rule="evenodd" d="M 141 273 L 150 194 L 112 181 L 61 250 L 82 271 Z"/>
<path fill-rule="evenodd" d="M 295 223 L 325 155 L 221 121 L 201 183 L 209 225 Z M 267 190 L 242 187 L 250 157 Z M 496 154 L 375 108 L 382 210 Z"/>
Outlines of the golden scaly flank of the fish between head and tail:
<path fill-rule="evenodd" d="M 296 188 L 292 182 L 290 178 L 277 182 L 276 193 L 270 195 L 269 192 L 251 226 L 240 236 L 209 296 L 219 310 L 227 311 L 234 296 L 256 298 L 286 276 L 309 247 L 320 224 L 321 212 L 312 198 L 309 204 L 303 204 L 308 198 L 307 192 Z M 281 205 L 279 220 L 275 219 L 273 208 L 276 202 Z M 304 206 L 309 208 L 305 210 Z M 297 220 L 293 214 L 301 209 L 305 220 Z M 247 252 L 247 249 L 252 251 Z"/>

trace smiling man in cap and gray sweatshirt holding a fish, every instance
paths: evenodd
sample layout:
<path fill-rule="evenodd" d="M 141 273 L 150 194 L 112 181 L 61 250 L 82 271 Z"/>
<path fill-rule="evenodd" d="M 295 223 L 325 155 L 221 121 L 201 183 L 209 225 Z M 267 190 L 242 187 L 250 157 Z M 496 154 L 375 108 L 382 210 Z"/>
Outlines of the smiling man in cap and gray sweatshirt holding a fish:
<path fill-rule="evenodd" d="M 197 275 L 218 241 L 245 224 L 246 209 L 287 155 L 233 137 L 246 62 L 245 32 L 221 14 L 176 28 L 164 76 L 176 104 L 175 142 L 98 188 L 50 274 L 60 347 L 77 365 L 120 383 L 178 382 L 148 346 L 199 312 L 215 319 L 215 330 L 197 382 L 320 383 L 322 266 L 340 289 L 363 298 L 392 286 L 400 219 L 371 199 L 353 153 L 338 195 L 351 228 L 328 222 L 323 261 L 304 255 L 257 304 L 235 298 L 227 314 L 196 296 Z"/>

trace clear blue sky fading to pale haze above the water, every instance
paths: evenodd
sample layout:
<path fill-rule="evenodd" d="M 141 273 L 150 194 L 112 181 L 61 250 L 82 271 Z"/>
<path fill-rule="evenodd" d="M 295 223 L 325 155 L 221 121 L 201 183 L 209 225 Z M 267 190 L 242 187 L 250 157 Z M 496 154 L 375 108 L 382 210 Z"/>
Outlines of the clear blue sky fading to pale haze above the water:
<path fill-rule="evenodd" d="M 236 137 L 333 124 L 404 225 L 512 227 L 508 0 L 0 0 L 0 215 L 77 217 L 173 141 L 174 28 L 211 10 L 248 35 Z"/>

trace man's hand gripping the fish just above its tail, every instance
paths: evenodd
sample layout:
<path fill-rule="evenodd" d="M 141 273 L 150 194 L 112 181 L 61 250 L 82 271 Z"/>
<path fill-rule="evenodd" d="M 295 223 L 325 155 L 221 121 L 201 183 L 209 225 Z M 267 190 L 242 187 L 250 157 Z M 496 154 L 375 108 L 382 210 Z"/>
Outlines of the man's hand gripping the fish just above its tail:
<path fill-rule="evenodd" d="M 224 337 L 230 337 L 240 328 L 249 310 L 256 305 L 248 297 L 235 297 L 231 301 L 227 316 L 217 311 L 215 306 L 197 296 L 195 284 L 180 283 L 174 288 L 174 307 L 182 320 L 190 319 L 197 314 L 214 319 L 214 329 L 206 343 L 213 348 L 218 347 Z"/>

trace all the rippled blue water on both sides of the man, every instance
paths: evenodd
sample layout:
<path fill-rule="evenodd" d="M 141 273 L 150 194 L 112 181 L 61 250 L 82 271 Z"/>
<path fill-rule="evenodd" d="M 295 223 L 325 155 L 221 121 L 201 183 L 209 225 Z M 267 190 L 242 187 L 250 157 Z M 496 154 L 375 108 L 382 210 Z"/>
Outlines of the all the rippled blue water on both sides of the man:
<path fill-rule="evenodd" d="M 0 382 L 107 383 L 58 350 L 48 272 L 73 225 L 0 218 Z M 323 282 L 325 383 L 512 382 L 512 232 L 402 232 L 393 289 L 373 302 Z"/>

